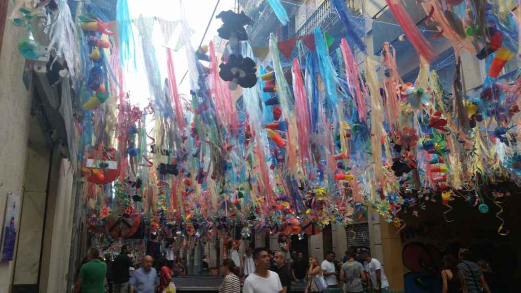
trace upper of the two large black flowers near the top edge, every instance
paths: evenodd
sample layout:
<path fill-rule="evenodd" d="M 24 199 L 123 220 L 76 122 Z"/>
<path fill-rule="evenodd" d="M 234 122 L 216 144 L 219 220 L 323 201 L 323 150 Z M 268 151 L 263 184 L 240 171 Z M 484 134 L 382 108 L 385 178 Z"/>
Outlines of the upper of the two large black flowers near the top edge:
<path fill-rule="evenodd" d="M 253 25 L 252 19 L 244 14 L 234 13 L 232 10 L 221 11 L 215 18 L 220 18 L 223 22 L 222 26 L 217 30 L 220 38 L 230 40 L 230 38 L 237 38 L 239 41 L 246 41 L 248 35 L 244 26 Z"/>

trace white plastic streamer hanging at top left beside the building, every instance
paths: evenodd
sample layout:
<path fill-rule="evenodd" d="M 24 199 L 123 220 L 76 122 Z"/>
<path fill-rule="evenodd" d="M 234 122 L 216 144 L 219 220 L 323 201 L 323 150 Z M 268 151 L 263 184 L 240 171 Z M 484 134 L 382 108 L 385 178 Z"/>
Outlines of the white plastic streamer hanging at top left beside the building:
<path fill-rule="evenodd" d="M 65 62 L 67 62 L 70 75 L 76 76 L 80 67 L 79 60 L 76 57 L 76 52 L 79 51 L 79 48 L 76 26 L 72 20 L 67 1 L 60 0 L 58 16 L 50 26 L 48 34 L 52 35 L 48 47 L 56 49 L 56 55 L 64 58 Z M 57 58 L 54 59 L 54 62 L 56 60 Z"/>

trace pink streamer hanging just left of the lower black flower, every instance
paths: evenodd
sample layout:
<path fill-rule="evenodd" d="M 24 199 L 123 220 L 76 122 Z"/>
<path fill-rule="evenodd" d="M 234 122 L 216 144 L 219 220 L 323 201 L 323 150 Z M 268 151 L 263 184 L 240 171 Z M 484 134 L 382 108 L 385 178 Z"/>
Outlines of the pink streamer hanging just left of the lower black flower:
<path fill-rule="evenodd" d="M 217 56 L 215 55 L 214 42 L 210 42 L 210 91 L 214 94 L 216 112 L 220 114 L 220 121 L 228 130 L 236 132 L 239 129 L 239 119 L 232 102 L 228 84 L 219 77 Z"/>

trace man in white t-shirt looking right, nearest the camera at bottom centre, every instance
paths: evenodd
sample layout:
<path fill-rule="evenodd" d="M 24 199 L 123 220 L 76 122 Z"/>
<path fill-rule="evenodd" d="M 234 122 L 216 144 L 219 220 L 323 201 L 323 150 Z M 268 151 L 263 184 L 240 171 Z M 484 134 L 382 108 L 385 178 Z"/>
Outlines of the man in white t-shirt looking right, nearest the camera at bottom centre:
<path fill-rule="evenodd" d="M 257 248 L 253 252 L 255 272 L 244 280 L 242 293 L 280 293 L 282 284 L 279 275 L 269 270 L 270 251 L 267 248 Z"/>

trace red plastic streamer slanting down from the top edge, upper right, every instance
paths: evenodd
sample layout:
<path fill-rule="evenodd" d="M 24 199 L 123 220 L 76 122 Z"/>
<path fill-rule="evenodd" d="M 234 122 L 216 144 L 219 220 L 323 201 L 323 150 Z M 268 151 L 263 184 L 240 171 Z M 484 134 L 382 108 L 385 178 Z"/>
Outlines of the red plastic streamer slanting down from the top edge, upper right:
<path fill-rule="evenodd" d="M 411 19 L 407 10 L 405 10 L 398 0 L 386 0 L 386 2 L 394 18 L 400 23 L 400 26 L 407 35 L 407 39 L 409 39 L 416 49 L 416 53 L 423 56 L 429 63 L 432 63 L 436 59 L 436 54 L 431 51 L 431 44 L 427 41 L 425 35 L 418 30 L 416 23 Z"/>

